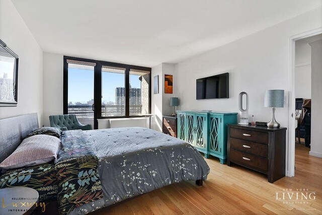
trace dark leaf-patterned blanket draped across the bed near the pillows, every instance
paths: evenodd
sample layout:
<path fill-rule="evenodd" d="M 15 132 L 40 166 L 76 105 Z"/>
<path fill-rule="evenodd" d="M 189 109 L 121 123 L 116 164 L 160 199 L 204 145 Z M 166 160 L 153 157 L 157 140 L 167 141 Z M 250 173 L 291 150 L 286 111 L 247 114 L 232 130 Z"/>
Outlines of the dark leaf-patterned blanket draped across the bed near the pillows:
<path fill-rule="evenodd" d="M 7 171 L 0 178 L 0 188 L 34 188 L 39 201 L 57 199 L 60 214 L 103 198 L 98 158 L 83 131 L 64 132 L 61 144 L 56 164 Z"/>

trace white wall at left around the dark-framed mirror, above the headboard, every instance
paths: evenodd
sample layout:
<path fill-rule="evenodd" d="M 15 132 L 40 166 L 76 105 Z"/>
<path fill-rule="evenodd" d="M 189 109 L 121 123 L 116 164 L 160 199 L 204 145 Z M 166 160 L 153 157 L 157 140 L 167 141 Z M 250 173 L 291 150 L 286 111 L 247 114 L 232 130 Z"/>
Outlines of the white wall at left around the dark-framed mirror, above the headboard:
<path fill-rule="evenodd" d="M 0 119 L 38 113 L 42 125 L 42 49 L 9 0 L 0 0 L 0 38 L 18 56 L 18 106 L 0 107 Z"/>

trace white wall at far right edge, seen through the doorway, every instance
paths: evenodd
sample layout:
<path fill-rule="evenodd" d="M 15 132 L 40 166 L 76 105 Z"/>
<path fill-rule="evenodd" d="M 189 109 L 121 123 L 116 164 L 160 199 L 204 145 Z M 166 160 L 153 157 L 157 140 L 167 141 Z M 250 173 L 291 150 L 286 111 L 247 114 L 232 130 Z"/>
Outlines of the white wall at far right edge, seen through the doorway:
<path fill-rule="evenodd" d="M 322 158 L 322 40 L 309 43 L 312 66 L 311 151 L 310 155 Z"/>

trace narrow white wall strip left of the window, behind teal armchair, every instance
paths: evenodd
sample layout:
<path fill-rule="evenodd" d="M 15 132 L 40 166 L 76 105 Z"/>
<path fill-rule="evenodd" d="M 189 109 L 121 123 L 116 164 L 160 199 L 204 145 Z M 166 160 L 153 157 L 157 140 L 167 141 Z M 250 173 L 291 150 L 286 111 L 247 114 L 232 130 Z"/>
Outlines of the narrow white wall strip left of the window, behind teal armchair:
<path fill-rule="evenodd" d="M 63 113 L 63 55 L 43 54 L 43 124 L 49 116 Z"/>

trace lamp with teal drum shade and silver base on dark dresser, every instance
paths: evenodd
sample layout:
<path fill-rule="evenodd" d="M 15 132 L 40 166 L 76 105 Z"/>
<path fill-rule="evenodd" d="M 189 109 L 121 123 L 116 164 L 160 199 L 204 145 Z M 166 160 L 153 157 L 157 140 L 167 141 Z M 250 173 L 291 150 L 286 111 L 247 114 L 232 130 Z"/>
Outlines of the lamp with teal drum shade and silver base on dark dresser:
<path fill-rule="evenodd" d="M 281 124 L 275 120 L 275 108 L 284 107 L 284 90 L 267 90 L 265 92 L 264 107 L 273 108 L 272 119 L 267 123 L 267 127 L 279 128 Z"/>

